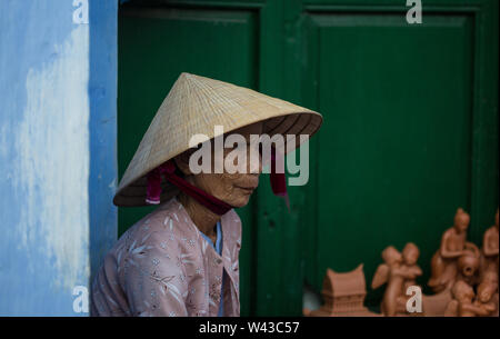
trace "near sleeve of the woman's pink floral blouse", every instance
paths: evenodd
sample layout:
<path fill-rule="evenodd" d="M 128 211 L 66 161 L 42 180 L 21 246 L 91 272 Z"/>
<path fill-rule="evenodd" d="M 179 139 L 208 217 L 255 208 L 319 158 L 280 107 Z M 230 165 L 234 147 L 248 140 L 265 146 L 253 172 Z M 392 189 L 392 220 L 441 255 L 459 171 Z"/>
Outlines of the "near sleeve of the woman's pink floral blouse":
<path fill-rule="evenodd" d="M 136 240 L 128 249 L 123 279 L 133 316 L 186 317 L 186 276 L 179 263 L 177 246 L 161 232 Z M 167 238 L 168 239 L 168 238 Z"/>

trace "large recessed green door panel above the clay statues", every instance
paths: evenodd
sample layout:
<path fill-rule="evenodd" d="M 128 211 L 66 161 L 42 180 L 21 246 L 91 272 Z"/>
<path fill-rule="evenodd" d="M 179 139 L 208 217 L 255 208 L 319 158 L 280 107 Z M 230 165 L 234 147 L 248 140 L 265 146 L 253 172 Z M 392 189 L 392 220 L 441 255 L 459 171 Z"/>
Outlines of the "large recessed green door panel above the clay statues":
<path fill-rule="evenodd" d="M 409 26 L 401 14 L 310 16 L 313 94 L 324 114 L 307 263 L 318 290 L 327 268 L 361 262 L 369 286 L 383 248 L 409 241 L 421 249 L 424 285 L 456 209 L 471 211 L 473 16 L 424 19 Z M 497 199 L 488 202 L 491 221 Z M 472 220 L 471 230 L 481 231 L 471 233 L 486 227 Z M 377 306 L 381 291 L 370 291 L 367 303 Z"/>

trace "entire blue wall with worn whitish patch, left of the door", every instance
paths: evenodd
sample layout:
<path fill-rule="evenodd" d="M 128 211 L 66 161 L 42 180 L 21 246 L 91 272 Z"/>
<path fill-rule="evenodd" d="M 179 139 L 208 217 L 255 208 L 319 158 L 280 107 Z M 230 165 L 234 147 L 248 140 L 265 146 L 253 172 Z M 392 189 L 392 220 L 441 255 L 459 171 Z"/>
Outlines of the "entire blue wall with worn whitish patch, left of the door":
<path fill-rule="evenodd" d="M 117 11 L 0 2 L 0 316 L 88 315 L 117 236 Z"/>

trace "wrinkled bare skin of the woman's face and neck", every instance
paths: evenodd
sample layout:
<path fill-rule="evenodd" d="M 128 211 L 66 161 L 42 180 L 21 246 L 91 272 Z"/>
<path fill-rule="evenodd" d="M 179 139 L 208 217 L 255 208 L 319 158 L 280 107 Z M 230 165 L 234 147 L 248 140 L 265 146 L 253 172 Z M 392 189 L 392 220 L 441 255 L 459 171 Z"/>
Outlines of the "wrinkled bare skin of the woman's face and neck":
<path fill-rule="evenodd" d="M 248 159 L 250 159 L 250 134 L 261 134 L 262 123 L 258 122 L 251 126 L 243 127 L 228 133 L 227 136 L 231 133 L 239 133 L 247 139 L 247 153 Z M 226 157 L 232 150 L 233 149 L 224 148 L 223 159 L 226 159 Z M 214 152 L 212 147 L 212 159 L 216 159 L 217 161 L 217 158 L 213 157 L 213 153 Z M 182 171 L 188 182 L 233 207 L 243 207 L 249 202 L 252 192 L 259 185 L 259 175 L 262 171 L 262 163 L 260 158 L 259 161 L 247 161 L 247 173 L 228 173 L 226 172 L 226 170 L 222 173 L 214 173 L 212 170 L 212 173 L 201 172 L 198 175 L 192 175 L 189 170 L 190 154 L 191 152 L 184 152 L 174 158 L 176 164 Z M 250 167 L 251 162 L 254 166 L 253 168 Z M 234 158 L 233 163 L 236 166 L 238 164 L 238 158 Z M 213 167 L 214 163 L 212 161 L 212 168 Z M 211 212 L 209 209 L 201 206 L 187 195 L 180 193 L 179 201 L 183 205 L 192 221 L 200 229 L 200 231 L 214 240 L 214 226 L 217 225 L 217 221 L 219 221 L 221 216 Z"/>

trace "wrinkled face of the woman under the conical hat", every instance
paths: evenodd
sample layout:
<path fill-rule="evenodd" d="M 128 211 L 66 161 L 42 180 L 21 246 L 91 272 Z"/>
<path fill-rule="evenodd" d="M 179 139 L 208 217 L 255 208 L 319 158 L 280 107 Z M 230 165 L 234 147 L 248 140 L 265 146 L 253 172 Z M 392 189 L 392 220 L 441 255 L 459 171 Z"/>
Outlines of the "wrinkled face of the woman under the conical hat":
<path fill-rule="evenodd" d="M 246 153 L 241 153 L 247 157 L 247 170 L 244 173 L 236 172 L 228 173 L 226 168 L 222 173 L 199 173 L 188 176 L 187 180 L 189 180 L 196 187 L 202 189 L 207 193 L 218 198 L 219 200 L 224 201 L 234 207 L 243 207 L 250 200 L 250 196 L 253 190 L 259 185 L 259 175 L 262 171 L 262 161 L 260 154 L 257 151 L 252 152 L 252 154 L 258 154 L 259 159 L 254 159 L 256 161 L 250 161 L 250 150 L 251 148 L 256 148 L 258 146 L 250 144 L 250 134 L 261 134 L 262 133 L 262 123 L 258 122 L 232 132 L 229 132 L 224 136 L 224 139 L 230 134 L 238 133 L 244 137 L 247 140 Z M 223 150 L 223 159 L 228 158 L 228 154 L 231 151 L 237 151 L 237 148 L 224 148 Z M 233 153 L 234 156 L 234 153 Z M 212 148 L 212 159 L 218 161 L 217 157 L 213 157 L 213 148 Z M 232 163 L 238 166 L 239 157 L 231 157 L 229 159 L 233 159 Z M 220 160 L 219 160 L 220 161 Z M 244 164 L 244 162 L 243 162 Z"/>

